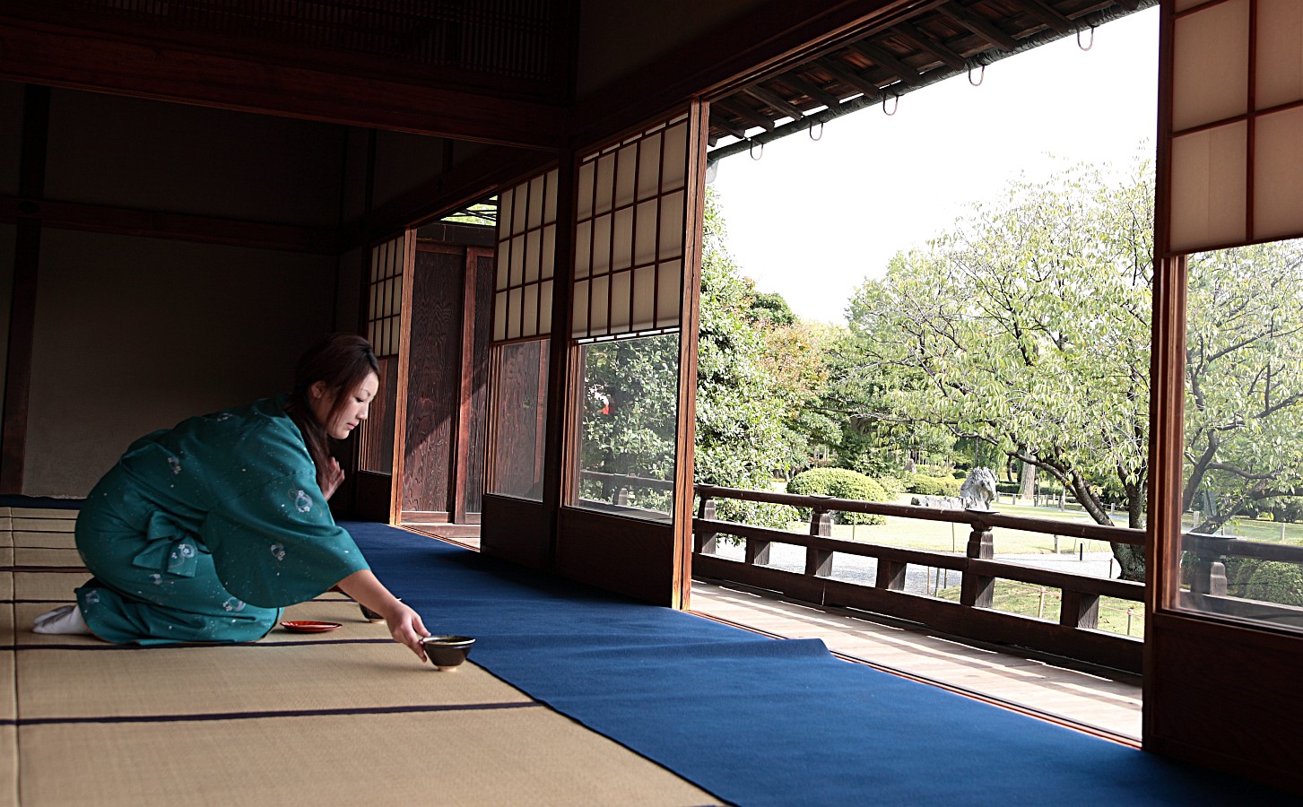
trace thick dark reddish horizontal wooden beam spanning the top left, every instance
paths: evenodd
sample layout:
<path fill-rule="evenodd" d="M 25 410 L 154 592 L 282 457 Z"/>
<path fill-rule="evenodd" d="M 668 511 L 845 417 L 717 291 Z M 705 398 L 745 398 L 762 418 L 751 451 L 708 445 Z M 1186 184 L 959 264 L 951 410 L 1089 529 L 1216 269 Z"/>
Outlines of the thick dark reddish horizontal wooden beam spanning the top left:
<path fill-rule="evenodd" d="M 259 61 L 0 14 L 0 78 L 532 149 L 566 110 L 414 81 Z"/>

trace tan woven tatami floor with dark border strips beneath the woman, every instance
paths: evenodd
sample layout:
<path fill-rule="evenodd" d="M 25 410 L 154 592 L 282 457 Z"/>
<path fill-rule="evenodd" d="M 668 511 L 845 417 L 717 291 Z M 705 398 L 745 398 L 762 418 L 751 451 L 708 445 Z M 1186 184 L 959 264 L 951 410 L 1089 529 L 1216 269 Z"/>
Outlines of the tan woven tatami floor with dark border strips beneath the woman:
<path fill-rule="evenodd" d="M 418 662 L 340 594 L 283 617 L 337 630 L 248 645 L 31 634 L 89 574 L 74 511 L 18 512 L 0 532 L 20 567 L 0 572 L 0 806 L 719 803 L 473 662 Z"/>

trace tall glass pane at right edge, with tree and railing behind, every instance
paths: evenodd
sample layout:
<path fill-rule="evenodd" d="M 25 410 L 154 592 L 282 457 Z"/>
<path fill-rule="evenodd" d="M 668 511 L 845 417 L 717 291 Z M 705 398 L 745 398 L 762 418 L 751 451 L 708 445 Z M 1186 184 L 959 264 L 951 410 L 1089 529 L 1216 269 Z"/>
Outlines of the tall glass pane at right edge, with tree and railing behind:
<path fill-rule="evenodd" d="M 1190 256 L 1179 606 L 1303 630 L 1303 241 Z"/>

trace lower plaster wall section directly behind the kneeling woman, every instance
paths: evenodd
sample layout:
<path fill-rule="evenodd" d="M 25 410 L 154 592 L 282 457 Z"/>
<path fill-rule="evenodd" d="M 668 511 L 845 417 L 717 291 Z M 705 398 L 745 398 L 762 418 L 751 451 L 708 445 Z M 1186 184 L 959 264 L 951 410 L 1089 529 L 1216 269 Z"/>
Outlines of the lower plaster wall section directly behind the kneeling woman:
<path fill-rule="evenodd" d="M 23 492 L 85 495 L 137 437 L 288 390 L 335 258 L 47 231 Z"/>

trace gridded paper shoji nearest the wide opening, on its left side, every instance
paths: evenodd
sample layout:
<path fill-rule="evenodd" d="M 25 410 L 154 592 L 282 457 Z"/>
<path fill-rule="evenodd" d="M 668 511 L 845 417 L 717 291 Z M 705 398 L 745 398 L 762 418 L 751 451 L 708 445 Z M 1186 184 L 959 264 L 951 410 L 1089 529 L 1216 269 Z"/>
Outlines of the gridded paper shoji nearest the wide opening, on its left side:
<path fill-rule="evenodd" d="M 579 169 L 572 335 L 679 326 L 688 119 L 586 155 Z"/>

